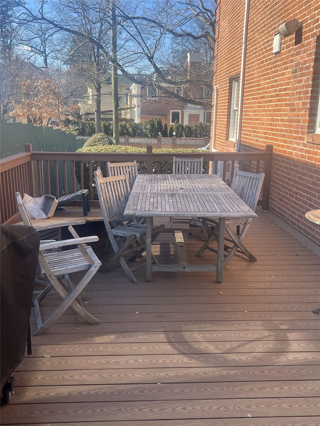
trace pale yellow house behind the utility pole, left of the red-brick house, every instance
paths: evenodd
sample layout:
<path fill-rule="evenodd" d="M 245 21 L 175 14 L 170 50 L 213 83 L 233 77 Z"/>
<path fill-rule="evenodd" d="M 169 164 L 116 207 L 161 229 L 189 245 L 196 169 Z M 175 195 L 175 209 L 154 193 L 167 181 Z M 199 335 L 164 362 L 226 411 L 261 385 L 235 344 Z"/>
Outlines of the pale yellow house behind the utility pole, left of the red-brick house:
<path fill-rule="evenodd" d="M 131 85 L 131 81 L 121 75 L 118 76 L 118 98 L 119 108 L 123 105 L 127 105 L 128 102 L 128 90 Z M 93 84 L 87 86 L 87 100 L 83 103 L 79 103 L 80 116 L 82 119 L 94 118 L 94 99 L 96 91 Z M 101 119 L 105 121 L 112 120 L 112 85 L 111 77 L 109 77 L 105 83 L 101 84 Z"/>

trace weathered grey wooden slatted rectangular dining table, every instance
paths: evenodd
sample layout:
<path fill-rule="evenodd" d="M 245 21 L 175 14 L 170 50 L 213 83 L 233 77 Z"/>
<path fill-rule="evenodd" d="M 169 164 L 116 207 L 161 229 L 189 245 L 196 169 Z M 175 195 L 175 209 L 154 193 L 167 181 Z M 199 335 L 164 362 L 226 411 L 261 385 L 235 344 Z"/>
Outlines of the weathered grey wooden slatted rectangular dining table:
<path fill-rule="evenodd" d="M 151 281 L 151 271 L 178 271 L 216 272 L 216 281 L 221 282 L 225 218 L 256 217 L 241 198 L 214 174 L 139 174 L 133 184 L 124 215 L 145 217 L 146 281 Z M 219 218 L 217 264 L 188 265 L 182 233 L 176 232 L 179 264 L 152 265 L 151 224 L 154 217 L 160 216 Z"/>

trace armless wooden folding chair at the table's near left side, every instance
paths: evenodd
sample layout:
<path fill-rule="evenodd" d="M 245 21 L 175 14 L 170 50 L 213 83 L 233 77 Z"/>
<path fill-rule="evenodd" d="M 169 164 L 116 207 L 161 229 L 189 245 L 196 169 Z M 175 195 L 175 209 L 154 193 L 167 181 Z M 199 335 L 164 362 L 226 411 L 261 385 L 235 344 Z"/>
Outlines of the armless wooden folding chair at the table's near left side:
<path fill-rule="evenodd" d="M 103 177 L 100 168 L 94 171 L 94 180 L 102 211 L 105 229 L 114 255 L 103 263 L 99 272 L 107 271 L 119 262 L 132 283 L 137 283 L 123 255 L 129 253 L 134 261 L 145 250 L 146 228 L 131 217 L 123 216 L 129 197 L 129 185 L 125 175 Z M 152 240 L 162 231 L 164 225 L 152 226 Z M 152 256 L 153 257 L 153 256 Z M 153 261 L 156 262 L 153 257 Z"/>

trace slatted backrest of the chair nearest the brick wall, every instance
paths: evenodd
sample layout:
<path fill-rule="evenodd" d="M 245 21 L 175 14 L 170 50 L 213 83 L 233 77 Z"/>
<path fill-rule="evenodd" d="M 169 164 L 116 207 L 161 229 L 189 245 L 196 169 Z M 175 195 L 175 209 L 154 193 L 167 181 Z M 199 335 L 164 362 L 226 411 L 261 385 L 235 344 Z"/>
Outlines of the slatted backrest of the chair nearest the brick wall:
<path fill-rule="evenodd" d="M 249 173 L 236 169 L 231 182 L 231 189 L 254 211 L 263 179 L 264 173 Z"/>

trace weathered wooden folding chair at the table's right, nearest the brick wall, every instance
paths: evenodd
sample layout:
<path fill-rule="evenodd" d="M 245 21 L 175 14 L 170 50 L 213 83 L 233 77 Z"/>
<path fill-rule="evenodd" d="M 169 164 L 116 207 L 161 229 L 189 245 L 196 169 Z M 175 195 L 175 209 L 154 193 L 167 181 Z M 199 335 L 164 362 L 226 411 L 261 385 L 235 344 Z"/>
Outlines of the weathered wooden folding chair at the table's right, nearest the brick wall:
<path fill-rule="evenodd" d="M 251 210 L 254 211 L 259 199 L 263 179 L 264 173 L 248 173 L 236 169 L 231 182 L 231 189 L 250 207 Z M 203 228 L 207 231 L 207 238 L 196 255 L 201 256 L 205 250 L 217 253 L 217 250 L 213 247 L 210 247 L 210 244 L 212 241 L 215 240 L 217 242 L 218 240 L 218 219 L 199 218 L 199 220 Z M 248 231 L 251 220 L 252 217 L 246 219 L 225 219 L 225 231 L 227 235 L 224 237 L 224 241 L 226 242 L 224 249 L 227 254 L 224 256 L 223 265 L 227 264 L 235 252 L 244 254 L 251 262 L 256 261 L 256 258 L 249 252 L 249 250 L 246 249 L 242 243 L 242 240 Z M 234 232 L 232 226 L 236 226 L 236 232 Z M 240 227 L 242 227 L 241 232 Z M 229 246 L 227 243 L 231 243 L 231 246 Z"/>

